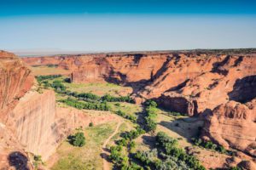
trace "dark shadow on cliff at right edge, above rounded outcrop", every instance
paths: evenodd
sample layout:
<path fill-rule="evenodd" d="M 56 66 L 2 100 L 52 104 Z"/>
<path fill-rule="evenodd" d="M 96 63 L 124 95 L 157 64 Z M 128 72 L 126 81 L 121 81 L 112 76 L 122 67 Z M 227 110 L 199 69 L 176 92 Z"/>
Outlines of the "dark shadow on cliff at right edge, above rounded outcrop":
<path fill-rule="evenodd" d="M 256 75 L 236 79 L 233 90 L 228 94 L 230 100 L 246 103 L 256 97 Z"/>

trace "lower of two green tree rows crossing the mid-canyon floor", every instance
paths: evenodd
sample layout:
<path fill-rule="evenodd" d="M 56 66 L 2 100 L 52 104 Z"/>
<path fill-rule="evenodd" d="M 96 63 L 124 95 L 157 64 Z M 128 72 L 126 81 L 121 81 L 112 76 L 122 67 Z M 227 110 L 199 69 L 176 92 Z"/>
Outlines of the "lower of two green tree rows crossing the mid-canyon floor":
<path fill-rule="evenodd" d="M 61 99 L 61 102 L 73 106 L 77 109 L 87 109 L 87 110 L 96 110 L 96 111 L 109 111 L 110 107 L 107 104 L 107 102 L 102 102 L 102 103 L 92 103 L 92 102 L 80 102 L 77 99 Z"/>

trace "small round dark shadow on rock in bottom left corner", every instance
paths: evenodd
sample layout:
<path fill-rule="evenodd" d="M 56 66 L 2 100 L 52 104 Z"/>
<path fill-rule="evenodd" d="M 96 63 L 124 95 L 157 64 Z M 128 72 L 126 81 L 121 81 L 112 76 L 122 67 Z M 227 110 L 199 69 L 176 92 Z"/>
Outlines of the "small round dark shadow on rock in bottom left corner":
<path fill-rule="evenodd" d="M 15 170 L 29 170 L 27 165 L 27 157 L 20 151 L 15 151 L 9 154 L 9 165 L 15 167 Z"/>

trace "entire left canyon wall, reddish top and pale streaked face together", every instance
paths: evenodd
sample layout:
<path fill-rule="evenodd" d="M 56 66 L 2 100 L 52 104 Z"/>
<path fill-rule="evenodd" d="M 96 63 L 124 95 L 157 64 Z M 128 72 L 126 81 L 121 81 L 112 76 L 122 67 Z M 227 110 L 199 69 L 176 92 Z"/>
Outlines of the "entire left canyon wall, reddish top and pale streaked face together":
<path fill-rule="evenodd" d="M 56 147 L 55 93 L 38 94 L 15 54 L 0 51 L 0 75 L 0 168 L 32 168 L 27 152 L 45 159 Z"/>

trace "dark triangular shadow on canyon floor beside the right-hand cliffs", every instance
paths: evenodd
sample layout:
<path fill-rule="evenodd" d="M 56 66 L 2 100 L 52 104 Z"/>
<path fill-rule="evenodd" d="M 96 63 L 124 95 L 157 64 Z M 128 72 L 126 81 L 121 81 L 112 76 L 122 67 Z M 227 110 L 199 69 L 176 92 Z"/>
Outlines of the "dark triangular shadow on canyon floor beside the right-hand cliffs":
<path fill-rule="evenodd" d="M 199 117 L 185 117 L 171 122 L 161 121 L 159 124 L 191 142 L 191 138 L 200 135 L 204 122 Z"/>

